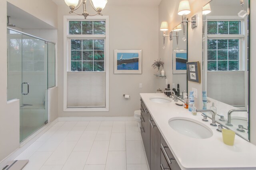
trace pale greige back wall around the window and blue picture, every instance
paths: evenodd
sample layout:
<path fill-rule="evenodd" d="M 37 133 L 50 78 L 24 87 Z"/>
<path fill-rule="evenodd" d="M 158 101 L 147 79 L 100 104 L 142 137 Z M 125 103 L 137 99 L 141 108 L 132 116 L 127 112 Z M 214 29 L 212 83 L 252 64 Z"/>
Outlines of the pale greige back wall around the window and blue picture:
<path fill-rule="evenodd" d="M 90 8 L 89 8 L 90 10 Z M 63 111 L 63 16 L 69 8 L 58 6 L 58 111 L 65 116 L 133 116 L 140 108 L 140 94 L 156 92 L 157 78 L 151 65 L 158 59 L 158 6 L 111 6 L 102 14 L 109 16 L 109 111 Z M 89 11 L 89 13 L 92 11 Z M 92 12 L 94 13 L 94 12 Z M 114 49 L 142 49 L 142 74 L 114 74 Z M 143 88 L 139 88 L 139 83 Z M 124 99 L 129 94 L 130 99 Z"/>

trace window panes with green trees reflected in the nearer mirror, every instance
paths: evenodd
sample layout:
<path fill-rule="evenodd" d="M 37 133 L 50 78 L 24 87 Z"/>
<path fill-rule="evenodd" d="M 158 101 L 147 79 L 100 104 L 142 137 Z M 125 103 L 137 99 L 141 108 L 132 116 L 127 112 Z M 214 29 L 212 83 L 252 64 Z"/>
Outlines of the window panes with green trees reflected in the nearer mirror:
<path fill-rule="evenodd" d="M 241 70 L 241 21 L 207 21 L 207 70 Z"/>

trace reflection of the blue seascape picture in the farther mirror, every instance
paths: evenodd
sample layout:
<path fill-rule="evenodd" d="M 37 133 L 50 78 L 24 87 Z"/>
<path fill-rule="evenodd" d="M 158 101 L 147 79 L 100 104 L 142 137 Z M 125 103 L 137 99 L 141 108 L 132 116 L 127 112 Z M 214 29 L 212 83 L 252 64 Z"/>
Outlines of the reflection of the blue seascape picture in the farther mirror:
<path fill-rule="evenodd" d="M 173 50 L 172 53 L 172 73 L 186 74 L 187 73 L 188 55 L 186 50 Z"/>

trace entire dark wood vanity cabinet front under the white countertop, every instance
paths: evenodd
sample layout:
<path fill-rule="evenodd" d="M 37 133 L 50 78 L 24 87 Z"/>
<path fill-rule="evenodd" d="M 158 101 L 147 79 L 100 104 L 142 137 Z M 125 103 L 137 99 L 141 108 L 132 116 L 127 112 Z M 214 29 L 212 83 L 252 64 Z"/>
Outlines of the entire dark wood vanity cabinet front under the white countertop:
<path fill-rule="evenodd" d="M 142 99 L 140 111 L 141 136 L 150 170 L 181 170 Z"/>

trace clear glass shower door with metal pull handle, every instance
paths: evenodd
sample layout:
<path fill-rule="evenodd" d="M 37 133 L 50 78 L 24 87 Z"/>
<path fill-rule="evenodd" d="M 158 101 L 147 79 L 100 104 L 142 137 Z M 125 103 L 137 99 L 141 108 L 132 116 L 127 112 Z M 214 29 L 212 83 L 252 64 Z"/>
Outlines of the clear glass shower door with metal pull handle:
<path fill-rule="evenodd" d="M 48 119 L 48 44 L 22 34 L 21 141 Z"/>

